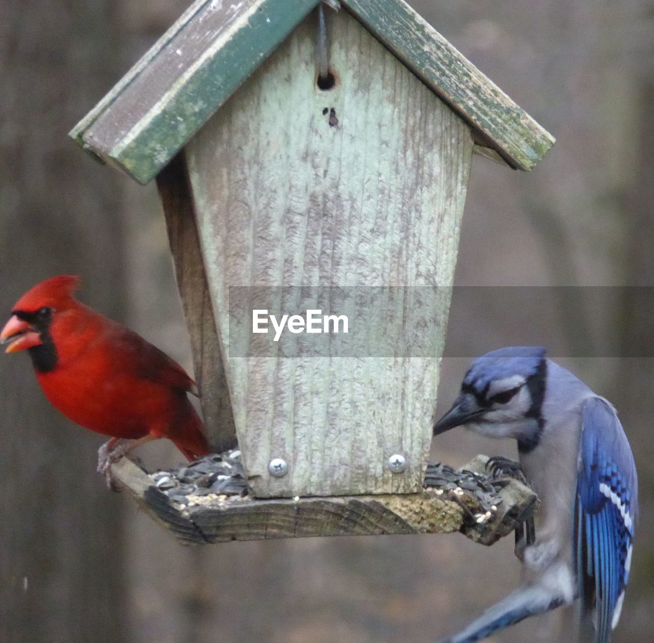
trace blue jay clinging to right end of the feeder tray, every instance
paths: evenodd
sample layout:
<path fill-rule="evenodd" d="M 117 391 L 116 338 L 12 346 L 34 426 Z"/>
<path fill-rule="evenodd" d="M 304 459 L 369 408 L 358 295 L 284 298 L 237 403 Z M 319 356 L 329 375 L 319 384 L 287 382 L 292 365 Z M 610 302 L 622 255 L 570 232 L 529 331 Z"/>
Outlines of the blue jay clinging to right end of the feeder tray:
<path fill-rule="evenodd" d="M 613 406 L 545 358 L 545 349 L 503 348 L 472 363 L 434 435 L 462 425 L 517 440 L 541 505 L 536 539 L 516 545 L 521 587 L 444 643 L 481 640 L 577 598 L 579 632 L 608 643 L 625 598 L 638 513 L 634 457 Z"/>

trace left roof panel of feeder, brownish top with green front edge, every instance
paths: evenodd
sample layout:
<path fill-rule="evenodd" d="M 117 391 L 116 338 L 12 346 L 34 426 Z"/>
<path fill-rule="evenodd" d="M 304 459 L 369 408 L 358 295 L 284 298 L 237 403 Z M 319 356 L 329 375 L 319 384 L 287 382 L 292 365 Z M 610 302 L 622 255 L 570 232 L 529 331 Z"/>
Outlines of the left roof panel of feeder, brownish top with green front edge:
<path fill-rule="evenodd" d="M 197 0 L 71 136 L 150 181 L 317 4 Z"/>

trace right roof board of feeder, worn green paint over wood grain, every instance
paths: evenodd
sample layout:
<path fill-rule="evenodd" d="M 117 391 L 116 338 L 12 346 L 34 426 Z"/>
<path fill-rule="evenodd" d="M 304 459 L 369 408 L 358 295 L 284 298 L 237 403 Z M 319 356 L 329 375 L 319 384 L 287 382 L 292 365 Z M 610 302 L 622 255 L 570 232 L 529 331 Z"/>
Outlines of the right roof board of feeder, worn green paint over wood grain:
<path fill-rule="evenodd" d="M 464 58 L 404 0 L 343 0 L 371 33 L 511 165 L 530 170 L 554 137 Z"/>

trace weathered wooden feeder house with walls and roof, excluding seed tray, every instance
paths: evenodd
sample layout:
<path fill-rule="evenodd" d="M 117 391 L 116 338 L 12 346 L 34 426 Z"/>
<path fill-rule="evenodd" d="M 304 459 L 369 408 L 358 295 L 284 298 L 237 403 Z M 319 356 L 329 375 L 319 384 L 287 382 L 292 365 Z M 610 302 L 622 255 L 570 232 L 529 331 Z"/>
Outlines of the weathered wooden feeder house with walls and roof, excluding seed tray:
<path fill-rule="evenodd" d="M 250 496 L 416 493 L 472 154 L 530 170 L 554 141 L 404 1 L 319 5 L 197 0 L 71 135 L 157 181 Z M 275 341 L 262 310 L 349 334 Z"/>

